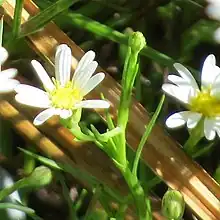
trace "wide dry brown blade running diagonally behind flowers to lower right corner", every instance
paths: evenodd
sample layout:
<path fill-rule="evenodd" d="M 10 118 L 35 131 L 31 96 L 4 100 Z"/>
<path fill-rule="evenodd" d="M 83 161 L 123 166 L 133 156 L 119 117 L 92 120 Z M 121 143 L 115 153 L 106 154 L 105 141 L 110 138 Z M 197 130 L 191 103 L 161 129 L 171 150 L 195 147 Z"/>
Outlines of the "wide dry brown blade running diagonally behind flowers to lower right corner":
<path fill-rule="evenodd" d="M 29 0 L 26 1 L 25 6 L 31 15 L 38 11 L 37 7 Z M 13 17 L 13 6 L 8 0 L 4 2 L 3 7 L 10 23 Z M 60 43 L 67 43 L 72 48 L 75 58 L 73 59 L 75 61 L 73 68 L 83 55 L 83 51 L 53 23 L 49 23 L 43 31 L 29 36 L 29 40 L 30 45 L 38 54 L 52 61 L 56 46 Z M 120 86 L 109 75 L 103 84 L 90 94 L 90 97 L 98 97 L 100 92 L 104 93 L 112 106 L 118 105 Z M 116 115 L 114 110 L 117 108 L 111 109 L 112 114 Z M 134 100 L 128 127 L 128 142 L 134 150 L 144 132 L 144 126 L 149 120 L 146 110 Z M 183 193 L 187 204 L 200 218 L 205 220 L 219 219 L 219 186 L 199 165 L 185 155 L 160 126 L 154 128 L 144 148 L 142 158 L 171 188 L 178 189 Z"/>

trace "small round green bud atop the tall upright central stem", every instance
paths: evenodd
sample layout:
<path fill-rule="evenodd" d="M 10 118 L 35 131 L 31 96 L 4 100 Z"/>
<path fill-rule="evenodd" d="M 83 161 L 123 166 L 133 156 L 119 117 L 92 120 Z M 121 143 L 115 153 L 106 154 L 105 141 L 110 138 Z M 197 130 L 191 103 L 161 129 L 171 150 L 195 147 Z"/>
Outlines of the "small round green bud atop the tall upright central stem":
<path fill-rule="evenodd" d="M 132 33 L 128 38 L 128 45 L 133 52 L 139 53 L 146 45 L 144 35 L 139 31 Z"/>

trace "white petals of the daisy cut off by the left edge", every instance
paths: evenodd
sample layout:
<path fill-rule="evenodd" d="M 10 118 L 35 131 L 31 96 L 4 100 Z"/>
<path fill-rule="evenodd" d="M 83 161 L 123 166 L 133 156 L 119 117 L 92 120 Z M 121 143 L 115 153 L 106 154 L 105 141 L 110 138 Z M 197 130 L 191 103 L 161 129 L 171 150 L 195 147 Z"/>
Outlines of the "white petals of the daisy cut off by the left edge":
<path fill-rule="evenodd" d="M 1 65 L 7 60 L 8 52 L 4 47 L 0 47 L 0 70 Z M 19 84 L 18 80 L 13 79 L 17 74 L 17 70 L 10 68 L 0 71 L 0 93 L 7 93 L 14 90 Z"/>

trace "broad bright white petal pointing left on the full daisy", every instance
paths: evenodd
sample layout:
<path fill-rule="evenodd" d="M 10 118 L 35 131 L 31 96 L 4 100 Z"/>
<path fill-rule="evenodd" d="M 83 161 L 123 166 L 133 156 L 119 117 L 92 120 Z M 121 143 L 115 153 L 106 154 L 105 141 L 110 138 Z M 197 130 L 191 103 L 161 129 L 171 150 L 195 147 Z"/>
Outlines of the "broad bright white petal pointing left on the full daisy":
<path fill-rule="evenodd" d="M 21 104 L 37 108 L 50 107 L 50 99 L 43 90 L 28 85 L 19 85 L 16 86 L 15 91 L 19 92 L 15 99 Z"/>

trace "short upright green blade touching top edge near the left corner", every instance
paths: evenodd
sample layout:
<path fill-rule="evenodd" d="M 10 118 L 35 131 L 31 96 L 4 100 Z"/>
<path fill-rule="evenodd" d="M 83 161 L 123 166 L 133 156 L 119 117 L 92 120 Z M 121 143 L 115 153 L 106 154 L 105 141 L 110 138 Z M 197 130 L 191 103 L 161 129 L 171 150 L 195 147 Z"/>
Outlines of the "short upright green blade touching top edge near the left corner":
<path fill-rule="evenodd" d="M 20 32 L 23 3 L 24 0 L 16 0 L 14 19 L 12 23 L 12 35 L 14 38 L 17 38 Z"/>

